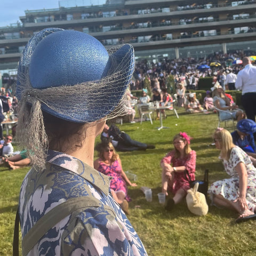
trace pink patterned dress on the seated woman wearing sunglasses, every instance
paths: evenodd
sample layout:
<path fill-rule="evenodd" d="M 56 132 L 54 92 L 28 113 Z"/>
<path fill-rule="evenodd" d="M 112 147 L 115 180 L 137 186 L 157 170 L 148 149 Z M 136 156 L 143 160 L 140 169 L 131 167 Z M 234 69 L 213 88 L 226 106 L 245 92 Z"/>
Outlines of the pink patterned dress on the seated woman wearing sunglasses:
<path fill-rule="evenodd" d="M 121 168 L 121 165 L 119 164 L 118 160 L 116 160 L 111 165 L 107 165 L 100 159 L 98 171 L 107 176 L 113 177 L 113 179 L 111 179 L 111 181 L 110 181 L 110 189 L 114 190 L 115 192 L 123 191 L 123 193 L 125 194 L 125 199 L 128 202 L 131 201 L 130 196 L 127 195 L 126 182 L 124 181 L 123 177 L 121 176 L 122 168 Z"/>

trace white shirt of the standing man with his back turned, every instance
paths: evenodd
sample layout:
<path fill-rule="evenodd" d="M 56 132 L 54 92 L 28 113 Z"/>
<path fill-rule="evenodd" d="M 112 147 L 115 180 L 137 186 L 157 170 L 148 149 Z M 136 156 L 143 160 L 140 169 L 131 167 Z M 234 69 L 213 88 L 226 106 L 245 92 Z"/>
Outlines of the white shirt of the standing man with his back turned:
<path fill-rule="evenodd" d="M 256 67 L 248 64 L 237 74 L 236 89 L 242 90 L 242 95 L 256 92 Z"/>

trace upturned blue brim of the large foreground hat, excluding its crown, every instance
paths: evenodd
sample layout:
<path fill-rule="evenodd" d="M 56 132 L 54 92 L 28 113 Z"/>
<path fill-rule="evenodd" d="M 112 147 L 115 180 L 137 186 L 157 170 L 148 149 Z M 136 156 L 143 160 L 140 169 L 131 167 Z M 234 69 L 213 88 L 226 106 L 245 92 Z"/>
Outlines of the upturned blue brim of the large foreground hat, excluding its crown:
<path fill-rule="evenodd" d="M 62 29 L 49 28 L 42 30 L 30 39 L 23 50 L 18 66 L 18 99 L 21 98 L 22 92 L 28 89 L 26 88 L 27 85 L 20 83 L 20 81 L 23 81 L 22 77 L 29 77 L 30 60 L 36 45 L 47 35 L 60 30 Z M 94 92 L 93 96 L 87 93 L 83 95 L 70 95 L 67 93 L 63 97 L 56 97 L 56 99 L 49 97 L 49 100 L 41 102 L 41 108 L 53 116 L 75 123 L 90 123 L 105 118 L 118 106 L 119 102 L 124 97 L 127 86 L 131 82 L 134 63 L 134 50 L 132 45 L 125 44 L 118 50 L 111 49 L 109 52 L 109 69 L 106 70 L 105 77 L 102 77 L 99 81 L 85 81 L 82 83 L 82 86 L 88 85 L 89 87 L 93 86 L 93 84 L 97 85 L 102 83 L 103 86 L 100 86 L 98 92 Z M 113 77 L 111 78 L 111 76 Z M 76 85 L 74 85 L 74 88 L 75 86 Z M 66 87 L 70 88 L 73 86 Z M 54 88 L 44 90 L 50 92 L 51 90 L 54 91 Z M 80 100 L 76 100 L 75 97 L 79 97 Z"/>

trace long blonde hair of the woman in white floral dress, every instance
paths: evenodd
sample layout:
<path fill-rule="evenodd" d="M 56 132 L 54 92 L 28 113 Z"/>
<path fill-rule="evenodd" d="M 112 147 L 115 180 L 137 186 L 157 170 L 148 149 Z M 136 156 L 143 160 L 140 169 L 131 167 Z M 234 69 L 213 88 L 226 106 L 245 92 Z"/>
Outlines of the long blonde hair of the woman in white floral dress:
<path fill-rule="evenodd" d="M 228 161 L 231 153 L 231 149 L 235 147 L 230 132 L 226 129 L 217 129 L 212 136 L 213 139 L 221 141 L 220 156 L 222 159 Z"/>

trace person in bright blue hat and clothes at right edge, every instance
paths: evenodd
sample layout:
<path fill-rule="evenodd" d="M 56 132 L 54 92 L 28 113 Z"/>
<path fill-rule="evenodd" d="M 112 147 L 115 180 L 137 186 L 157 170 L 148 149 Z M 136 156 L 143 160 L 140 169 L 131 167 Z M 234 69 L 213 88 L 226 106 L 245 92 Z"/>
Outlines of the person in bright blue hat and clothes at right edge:
<path fill-rule="evenodd" d="M 237 130 L 231 132 L 233 143 L 242 148 L 250 156 L 253 165 L 256 165 L 256 146 L 253 133 L 256 132 L 256 123 L 251 119 L 242 119 L 236 125 Z"/>

